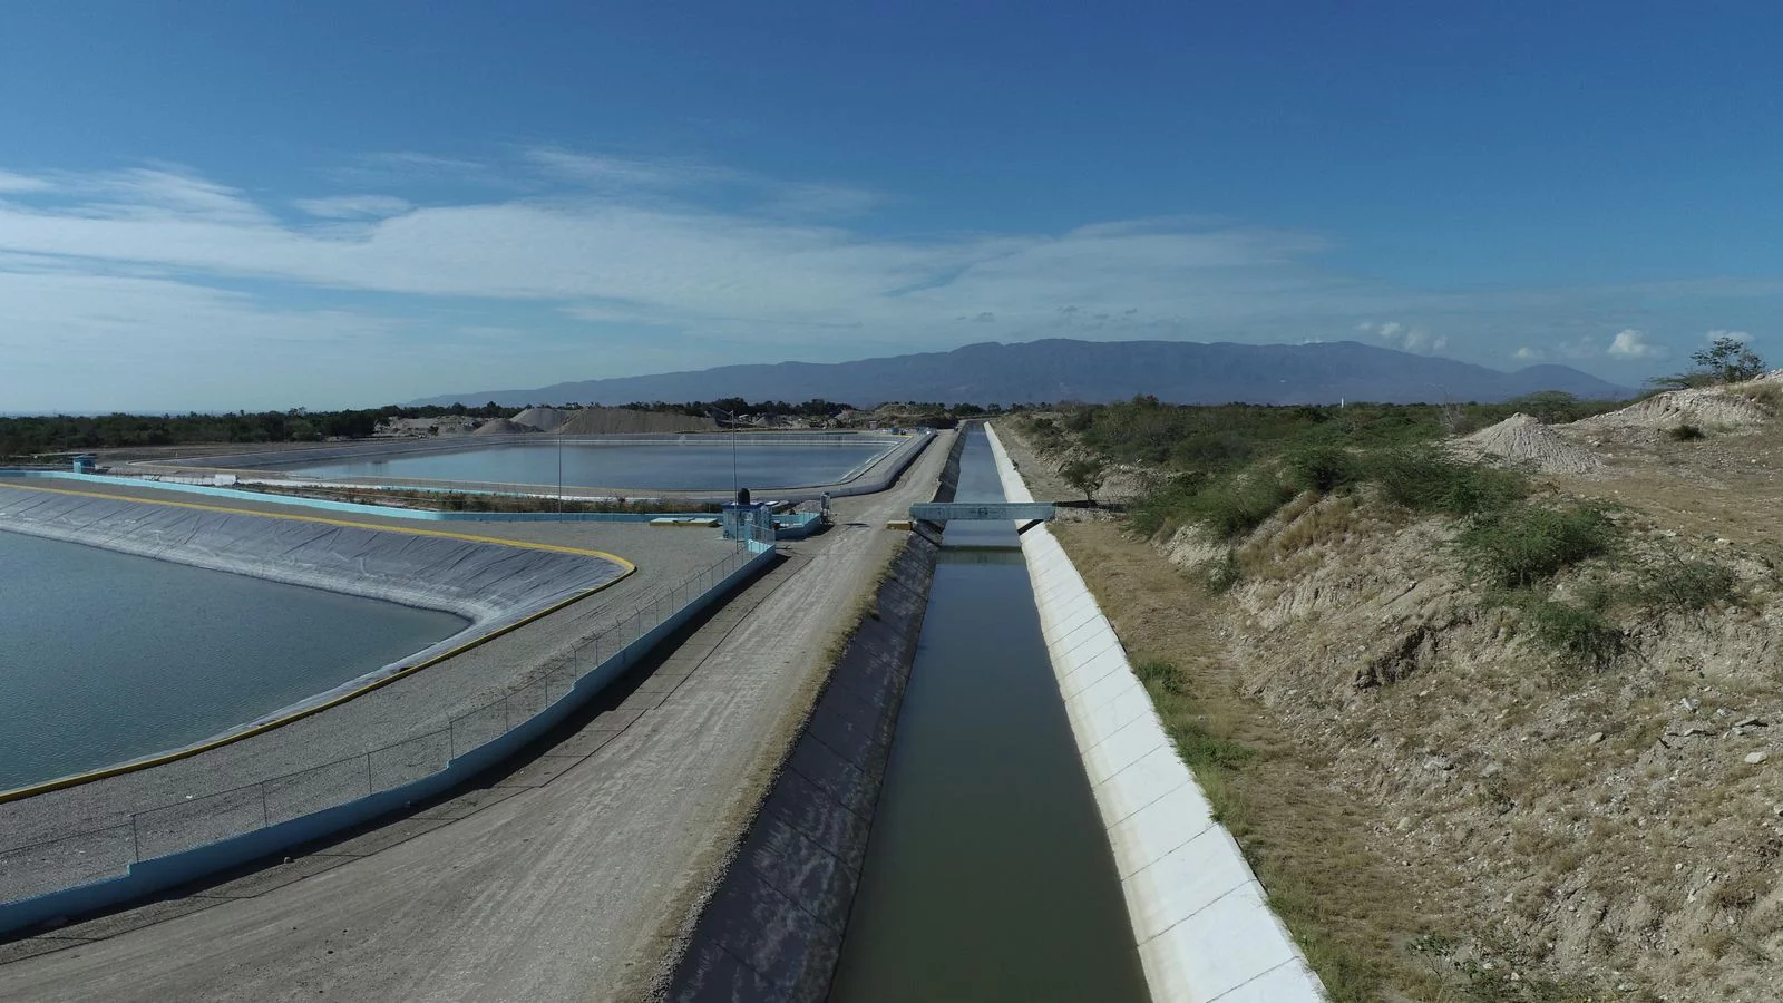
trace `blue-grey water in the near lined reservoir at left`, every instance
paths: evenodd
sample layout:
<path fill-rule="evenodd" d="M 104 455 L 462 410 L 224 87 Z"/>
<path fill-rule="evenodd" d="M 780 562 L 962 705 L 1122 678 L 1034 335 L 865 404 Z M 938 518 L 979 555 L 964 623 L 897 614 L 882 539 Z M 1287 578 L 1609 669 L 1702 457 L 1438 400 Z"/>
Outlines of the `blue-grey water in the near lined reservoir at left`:
<path fill-rule="evenodd" d="M 0 791 L 207 739 L 464 625 L 0 532 Z"/>

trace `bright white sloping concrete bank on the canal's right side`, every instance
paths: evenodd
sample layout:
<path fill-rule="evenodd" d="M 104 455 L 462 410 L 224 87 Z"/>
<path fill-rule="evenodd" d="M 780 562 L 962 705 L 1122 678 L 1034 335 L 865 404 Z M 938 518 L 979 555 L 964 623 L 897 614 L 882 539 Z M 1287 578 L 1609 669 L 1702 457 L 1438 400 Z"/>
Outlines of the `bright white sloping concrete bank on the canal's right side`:
<path fill-rule="evenodd" d="M 1009 502 L 1032 502 L 997 432 Z M 1041 634 L 1109 832 L 1145 980 L 1157 1003 L 1294 1003 L 1323 987 L 1269 910 L 1232 833 L 1164 732 L 1114 626 L 1059 541 L 1022 534 Z"/>

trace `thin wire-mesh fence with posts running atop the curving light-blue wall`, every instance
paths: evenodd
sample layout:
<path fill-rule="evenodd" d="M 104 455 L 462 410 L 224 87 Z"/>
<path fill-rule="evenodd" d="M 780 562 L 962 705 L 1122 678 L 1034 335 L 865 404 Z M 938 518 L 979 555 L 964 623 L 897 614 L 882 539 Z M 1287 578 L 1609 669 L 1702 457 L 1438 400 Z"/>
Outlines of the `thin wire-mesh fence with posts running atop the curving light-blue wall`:
<path fill-rule="evenodd" d="M 244 835 L 440 773 L 460 755 L 537 717 L 567 696 L 578 680 L 661 626 L 763 550 L 760 543 L 738 543 L 722 560 L 658 589 L 617 621 L 576 642 L 569 655 L 549 662 L 535 678 L 426 732 L 294 773 L 114 816 L 71 835 L 0 848 L 0 905 L 119 876 L 132 864 Z M 0 805 L 0 821 L 7 810 L 29 803 Z"/>

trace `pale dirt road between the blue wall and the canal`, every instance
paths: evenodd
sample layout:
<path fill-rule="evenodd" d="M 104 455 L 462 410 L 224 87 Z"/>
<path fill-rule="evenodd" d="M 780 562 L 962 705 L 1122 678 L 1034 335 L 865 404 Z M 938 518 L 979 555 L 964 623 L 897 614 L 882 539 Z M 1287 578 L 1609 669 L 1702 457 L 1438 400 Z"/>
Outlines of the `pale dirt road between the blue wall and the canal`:
<path fill-rule="evenodd" d="M 744 825 L 824 648 L 927 500 L 888 493 L 494 787 L 196 894 L 0 946 L 0 999 L 626 999 Z M 39 951 L 39 953 L 34 953 Z"/>

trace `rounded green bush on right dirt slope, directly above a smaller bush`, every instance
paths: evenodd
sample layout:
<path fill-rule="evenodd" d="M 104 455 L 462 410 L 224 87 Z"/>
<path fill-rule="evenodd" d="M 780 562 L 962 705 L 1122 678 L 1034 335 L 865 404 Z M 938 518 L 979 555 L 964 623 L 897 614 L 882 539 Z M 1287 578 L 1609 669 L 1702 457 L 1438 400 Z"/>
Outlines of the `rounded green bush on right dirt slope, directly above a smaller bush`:
<path fill-rule="evenodd" d="M 1614 541 L 1615 528 L 1598 509 L 1517 503 L 1475 516 L 1455 543 L 1489 584 L 1523 589 L 1608 553 Z"/>

